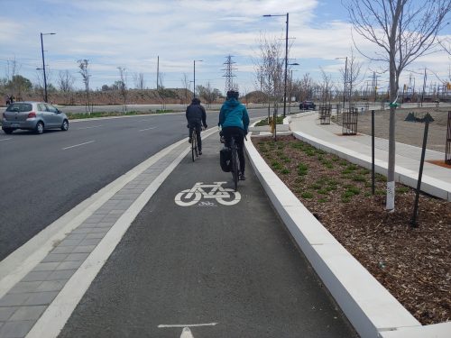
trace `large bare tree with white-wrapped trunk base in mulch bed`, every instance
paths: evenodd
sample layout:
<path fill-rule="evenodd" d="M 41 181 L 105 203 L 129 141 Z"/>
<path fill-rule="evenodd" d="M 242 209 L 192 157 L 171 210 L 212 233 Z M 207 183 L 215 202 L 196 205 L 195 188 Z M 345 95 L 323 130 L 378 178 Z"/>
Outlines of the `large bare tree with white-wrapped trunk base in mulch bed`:
<path fill-rule="evenodd" d="M 395 108 L 400 73 L 425 54 L 437 40 L 449 13 L 449 0 L 348 0 L 346 4 L 354 31 L 380 50 L 366 58 L 388 64 L 390 70 L 389 167 L 386 209 L 394 210 Z M 355 43 L 354 43 L 355 44 Z"/>

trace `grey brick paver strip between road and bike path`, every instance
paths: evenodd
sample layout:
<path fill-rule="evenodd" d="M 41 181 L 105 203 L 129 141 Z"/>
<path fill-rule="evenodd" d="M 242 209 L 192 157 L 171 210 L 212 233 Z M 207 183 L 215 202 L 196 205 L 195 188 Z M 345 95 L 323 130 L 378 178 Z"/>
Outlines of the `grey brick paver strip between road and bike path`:
<path fill-rule="evenodd" d="M 0 338 L 24 337 L 106 233 L 186 149 L 181 144 L 127 183 L 0 298 Z"/>

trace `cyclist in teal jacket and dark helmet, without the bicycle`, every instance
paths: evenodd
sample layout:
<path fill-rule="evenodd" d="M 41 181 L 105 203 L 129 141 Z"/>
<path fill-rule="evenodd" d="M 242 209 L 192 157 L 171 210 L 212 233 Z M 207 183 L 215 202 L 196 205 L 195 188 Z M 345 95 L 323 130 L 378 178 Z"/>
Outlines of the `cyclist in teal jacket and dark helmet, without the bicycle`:
<path fill-rule="evenodd" d="M 235 142 L 238 146 L 238 158 L 240 159 L 240 179 L 244 177 L 244 136 L 249 128 L 249 114 L 246 107 L 238 101 L 239 93 L 235 90 L 227 92 L 226 102 L 222 105 L 219 113 L 219 123 L 222 127 L 222 133 L 226 139 L 226 145 L 230 144 L 232 135 L 235 136 Z"/>

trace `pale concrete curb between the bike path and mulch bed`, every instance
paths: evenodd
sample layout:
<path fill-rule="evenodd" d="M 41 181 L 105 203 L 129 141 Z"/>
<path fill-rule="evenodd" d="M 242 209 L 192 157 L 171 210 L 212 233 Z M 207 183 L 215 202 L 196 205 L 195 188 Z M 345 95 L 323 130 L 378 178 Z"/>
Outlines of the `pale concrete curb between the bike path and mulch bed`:
<path fill-rule="evenodd" d="M 272 205 L 319 278 L 363 337 L 449 337 L 451 323 L 422 326 L 308 212 L 253 146 L 245 142 L 253 169 Z"/>

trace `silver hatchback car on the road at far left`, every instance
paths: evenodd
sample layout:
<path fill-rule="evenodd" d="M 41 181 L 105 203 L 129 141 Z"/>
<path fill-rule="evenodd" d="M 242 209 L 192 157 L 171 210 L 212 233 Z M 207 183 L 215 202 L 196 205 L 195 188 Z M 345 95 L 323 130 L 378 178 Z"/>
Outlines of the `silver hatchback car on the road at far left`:
<path fill-rule="evenodd" d="M 14 102 L 8 105 L 2 118 L 2 129 L 6 133 L 16 129 L 42 133 L 45 129 L 69 129 L 69 119 L 58 108 L 45 102 Z"/>

